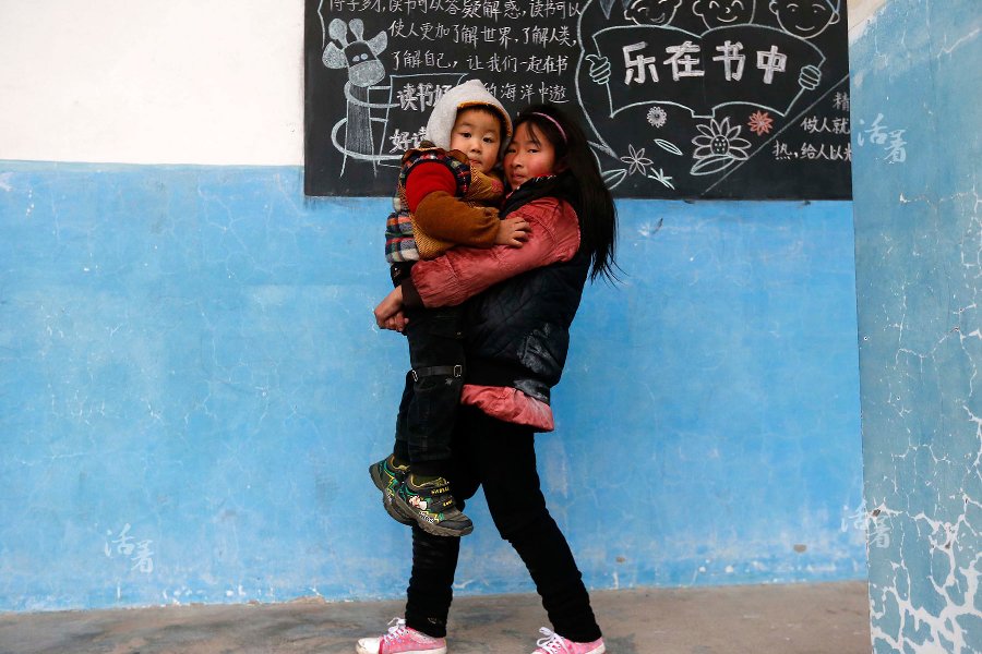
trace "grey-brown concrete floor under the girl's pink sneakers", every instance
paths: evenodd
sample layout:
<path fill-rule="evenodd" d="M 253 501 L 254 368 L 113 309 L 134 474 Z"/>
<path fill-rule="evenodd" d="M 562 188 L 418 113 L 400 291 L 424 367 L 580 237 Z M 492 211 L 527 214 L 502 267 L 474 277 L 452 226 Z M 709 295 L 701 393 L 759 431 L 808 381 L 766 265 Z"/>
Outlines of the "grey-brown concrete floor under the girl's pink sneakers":
<path fill-rule="evenodd" d="M 591 594 L 612 654 L 871 652 L 866 584 L 647 589 Z M 402 602 L 159 607 L 0 614 L 16 654 L 333 654 L 384 631 Z M 546 614 L 536 595 L 460 597 L 450 654 L 528 654 Z"/>

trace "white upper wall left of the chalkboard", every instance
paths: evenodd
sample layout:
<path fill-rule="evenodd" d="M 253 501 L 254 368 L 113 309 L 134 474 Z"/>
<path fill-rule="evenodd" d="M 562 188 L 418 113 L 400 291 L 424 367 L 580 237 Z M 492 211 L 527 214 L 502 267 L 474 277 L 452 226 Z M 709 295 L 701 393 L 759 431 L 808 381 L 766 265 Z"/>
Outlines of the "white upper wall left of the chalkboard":
<path fill-rule="evenodd" d="M 299 165 L 303 3 L 0 0 L 0 159 Z"/>

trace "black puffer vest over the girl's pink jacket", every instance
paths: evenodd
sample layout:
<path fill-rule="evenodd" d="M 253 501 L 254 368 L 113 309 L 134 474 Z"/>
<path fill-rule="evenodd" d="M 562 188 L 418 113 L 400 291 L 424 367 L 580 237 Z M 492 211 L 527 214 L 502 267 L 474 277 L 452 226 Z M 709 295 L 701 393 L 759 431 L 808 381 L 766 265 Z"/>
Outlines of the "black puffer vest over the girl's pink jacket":
<path fill-rule="evenodd" d="M 505 217 L 540 197 L 566 201 L 579 216 L 573 177 L 561 173 L 524 183 L 505 201 Z M 536 268 L 468 301 L 465 348 L 468 384 L 510 386 L 549 403 L 563 374 L 570 325 L 579 307 L 589 256 Z"/>

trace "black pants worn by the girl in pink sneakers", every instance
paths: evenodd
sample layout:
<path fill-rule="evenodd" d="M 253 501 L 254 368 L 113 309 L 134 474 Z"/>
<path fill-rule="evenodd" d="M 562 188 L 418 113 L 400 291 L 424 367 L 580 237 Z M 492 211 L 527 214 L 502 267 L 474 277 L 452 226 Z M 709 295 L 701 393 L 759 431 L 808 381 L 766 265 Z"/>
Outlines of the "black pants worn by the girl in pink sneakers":
<path fill-rule="evenodd" d="M 453 435 L 450 483 L 458 508 L 479 486 L 501 537 L 528 568 L 553 631 L 574 642 L 600 638 L 590 598 L 566 538 L 546 508 L 536 471 L 531 427 L 460 407 Z M 446 635 L 460 538 L 412 528 L 412 574 L 406 623 L 435 638 Z"/>

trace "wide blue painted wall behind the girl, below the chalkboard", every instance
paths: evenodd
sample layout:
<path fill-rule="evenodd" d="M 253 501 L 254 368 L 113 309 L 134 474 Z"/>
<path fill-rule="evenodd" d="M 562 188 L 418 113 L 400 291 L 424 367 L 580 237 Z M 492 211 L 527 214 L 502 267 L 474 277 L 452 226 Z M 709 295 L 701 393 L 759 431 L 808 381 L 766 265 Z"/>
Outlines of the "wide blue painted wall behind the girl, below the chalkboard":
<path fill-rule="evenodd" d="M 0 610 L 398 597 L 387 201 L 0 164 Z M 865 573 L 850 203 L 622 202 L 538 439 L 592 588 Z M 462 593 L 530 591 L 483 502 Z M 860 521 L 861 522 L 861 521 Z"/>

